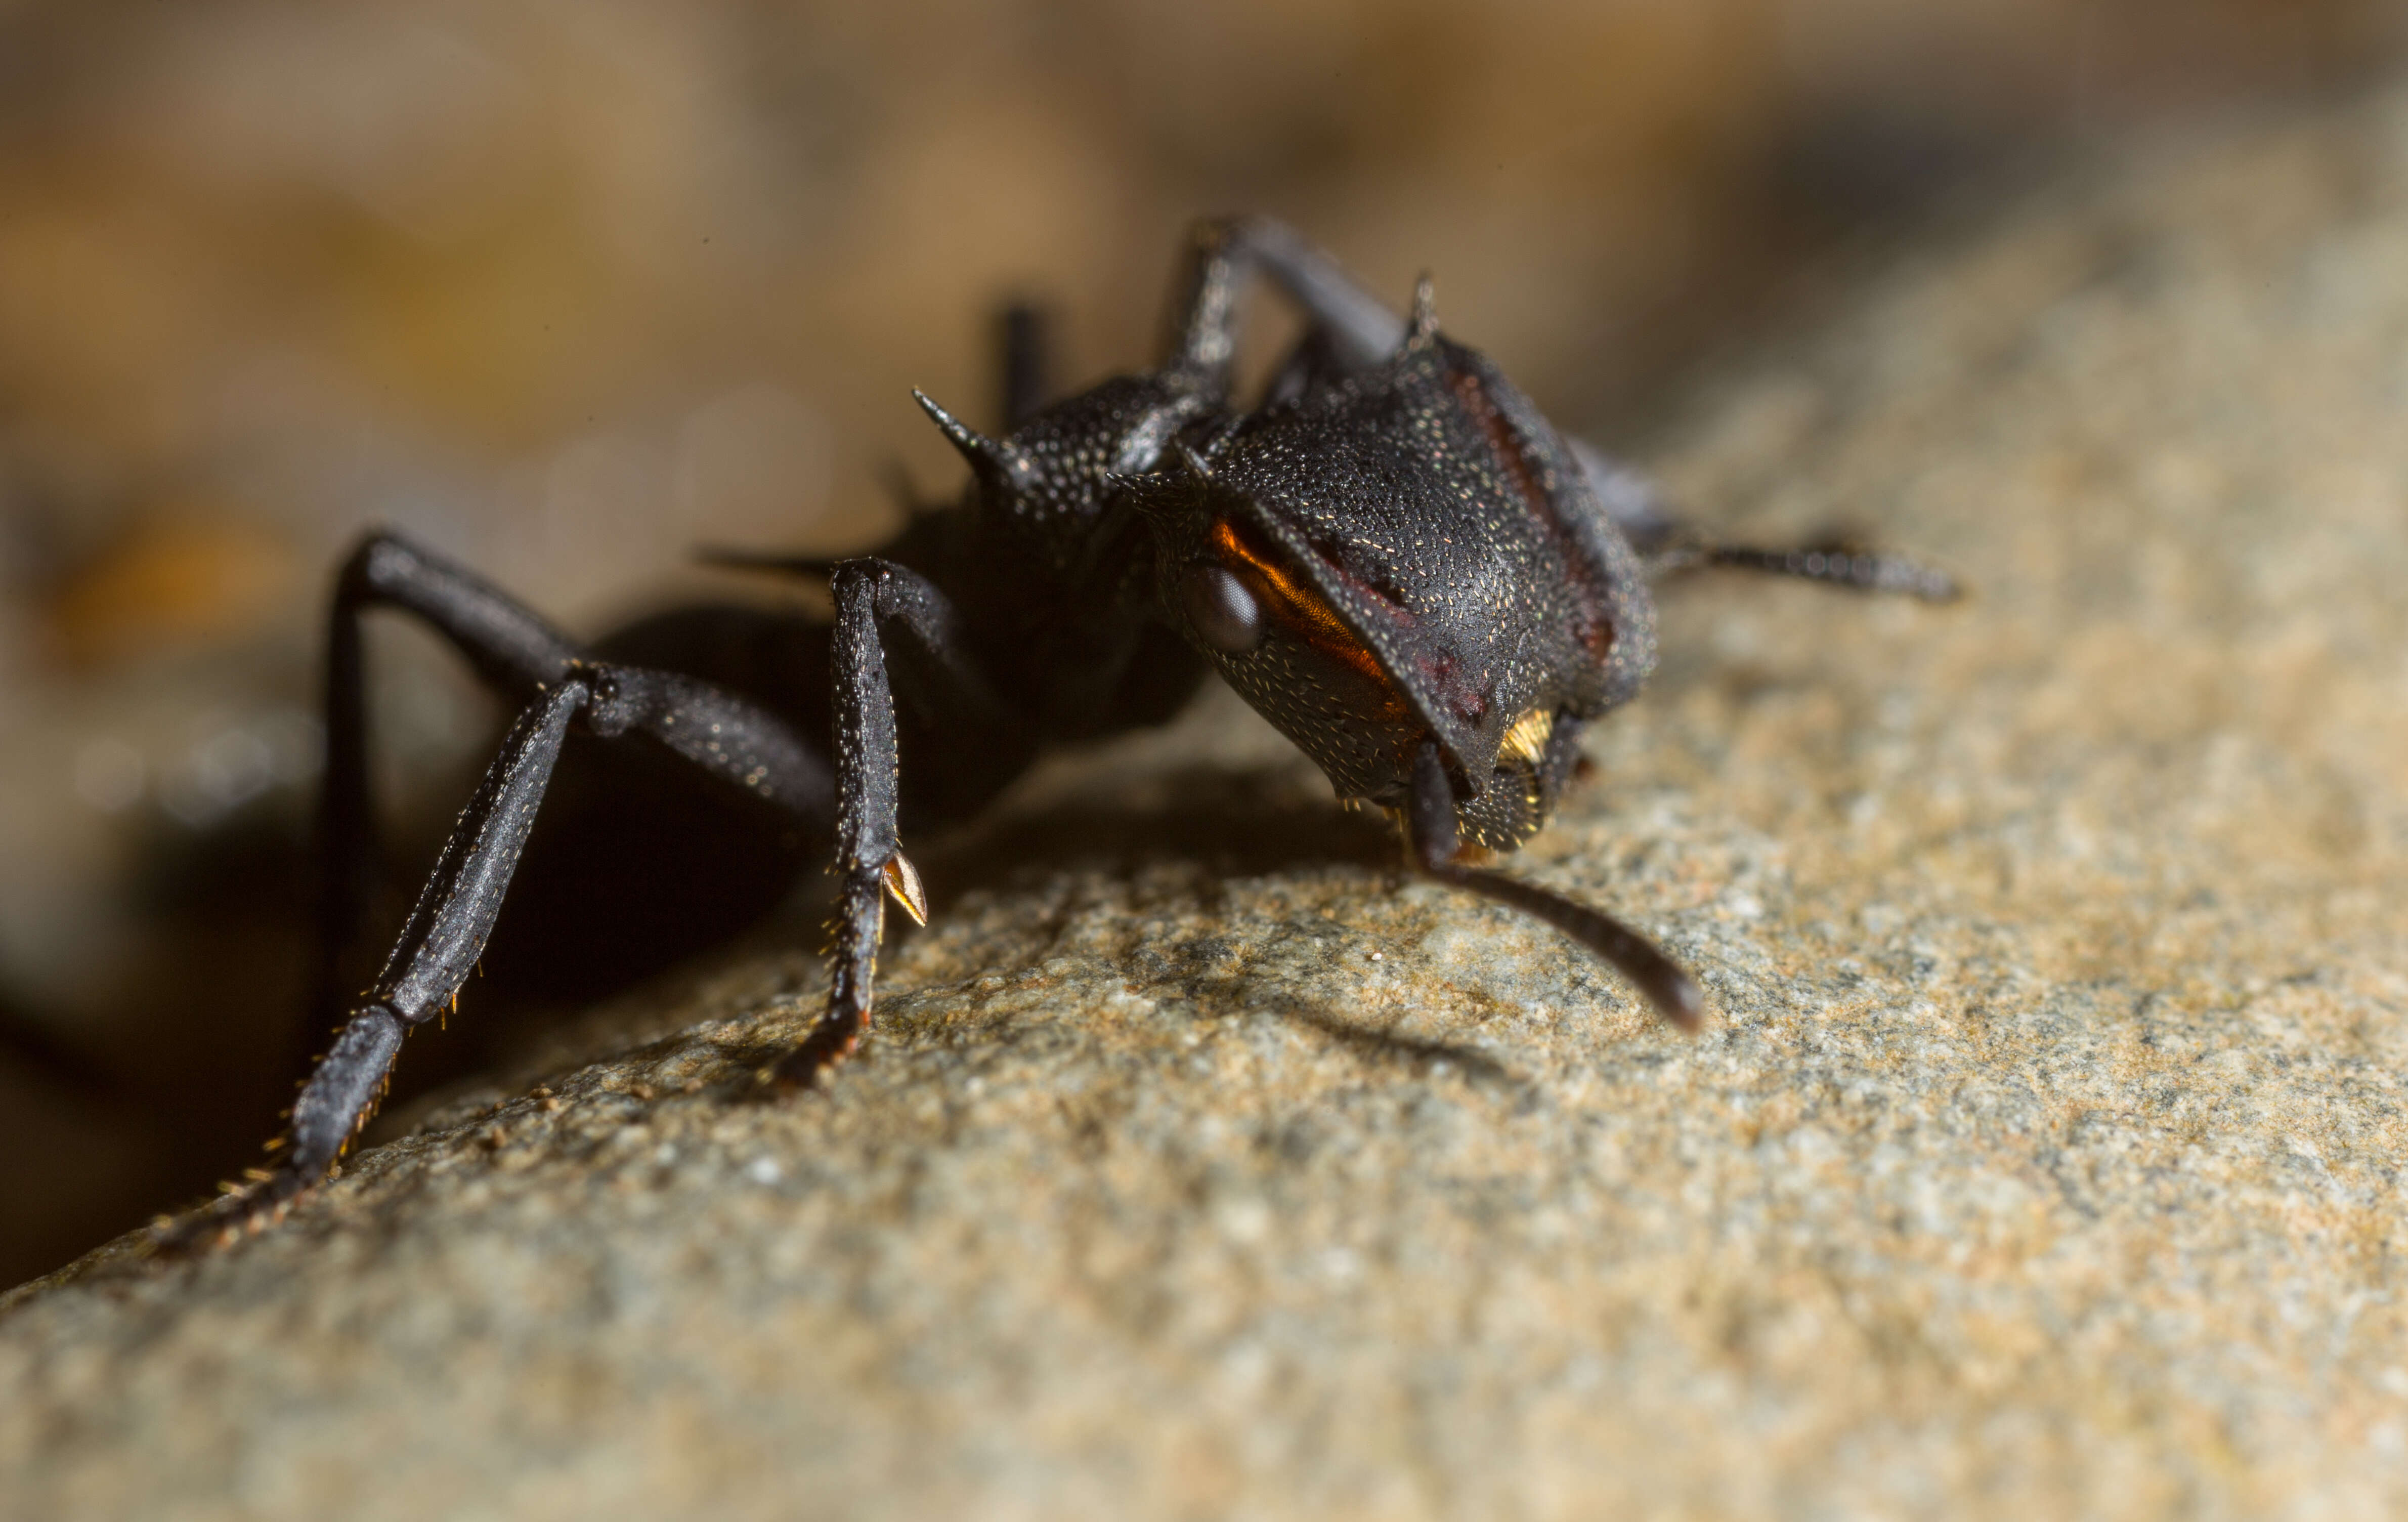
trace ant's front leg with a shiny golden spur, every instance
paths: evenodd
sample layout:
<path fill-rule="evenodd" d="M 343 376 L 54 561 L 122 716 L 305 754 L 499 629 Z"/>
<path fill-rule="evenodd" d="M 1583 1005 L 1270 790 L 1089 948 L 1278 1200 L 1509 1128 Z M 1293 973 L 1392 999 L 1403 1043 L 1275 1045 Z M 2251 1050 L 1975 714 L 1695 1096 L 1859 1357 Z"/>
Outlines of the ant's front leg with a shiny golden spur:
<path fill-rule="evenodd" d="M 886 893 L 927 918 L 920 877 L 896 833 L 896 689 L 946 727 L 949 756 L 932 766 L 992 790 L 1033 749 L 968 657 L 954 604 L 915 571 L 881 559 L 836 568 L 836 946 L 819 1026 L 773 1069 L 780 1086 L 809 1084 L 869 1031 L 869 995 Z M 893 657 L 893 672 L 889 672 Z M 893 682 L 901 677 L 901 682 Z"/>

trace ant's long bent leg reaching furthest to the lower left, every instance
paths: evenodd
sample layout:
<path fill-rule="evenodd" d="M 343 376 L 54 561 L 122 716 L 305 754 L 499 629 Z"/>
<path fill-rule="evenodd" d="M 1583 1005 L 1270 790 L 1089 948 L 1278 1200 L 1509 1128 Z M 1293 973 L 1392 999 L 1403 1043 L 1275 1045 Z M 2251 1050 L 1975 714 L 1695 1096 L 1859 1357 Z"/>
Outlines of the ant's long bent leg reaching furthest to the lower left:
<path fill-rule="evenodd" d="M 766 802 L 826 819 L 826 763 L 771 713 L 677 672 L 571 662 L 503 737 L 385 968 L 301 1086 L 277 1166 L 164 1226 L 161 1247 L 193 1247 L 265 1223 L 342 1158 L 385 1093 L 402 1036 L 448 1009 L 477 968 L 571 722 L 602 739 L 641 735 Z"/>

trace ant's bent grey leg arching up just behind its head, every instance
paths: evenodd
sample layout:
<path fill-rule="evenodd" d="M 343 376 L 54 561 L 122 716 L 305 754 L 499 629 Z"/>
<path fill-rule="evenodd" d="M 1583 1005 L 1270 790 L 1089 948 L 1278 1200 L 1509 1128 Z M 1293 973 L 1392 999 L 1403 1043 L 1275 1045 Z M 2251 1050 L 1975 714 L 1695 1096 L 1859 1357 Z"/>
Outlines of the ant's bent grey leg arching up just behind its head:
<path fill-rule="evenodd" d="M 1194 229 L 1163 368 L 1228 385 L 1238 349 L 1238 299 L 1257 272 L 1269 275 L 1315 325 L 1329 330 L 1332 352 L 1348 371 L 1370 368 L 1404 344 L 1404 318 L 1300 231 L 1271 217 L 1226 217 Z"/>

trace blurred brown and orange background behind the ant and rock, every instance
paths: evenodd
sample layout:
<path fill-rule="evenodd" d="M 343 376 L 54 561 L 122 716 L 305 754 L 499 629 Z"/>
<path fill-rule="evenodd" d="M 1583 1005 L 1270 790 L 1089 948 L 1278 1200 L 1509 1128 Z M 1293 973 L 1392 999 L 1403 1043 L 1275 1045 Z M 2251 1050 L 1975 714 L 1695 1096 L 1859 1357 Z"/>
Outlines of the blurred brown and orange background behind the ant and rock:
<path fill-rule="evenodd" d="M 956 482 L 910 385 L 992 421 L 1007 299 L 1064 383 L 1144 364 L 1214 210 L 1435 272 L 1630 446 L 1866 243 L 2403 43 L 2396 0 L 0 0 L 0 1286 L 289 1098 L 364 525 L 573 631 L 807 600 L 689 549 L 874 544 L 898 462 Z M 414 881 L 498 715 L 414 631 L 371 662 Z"/>

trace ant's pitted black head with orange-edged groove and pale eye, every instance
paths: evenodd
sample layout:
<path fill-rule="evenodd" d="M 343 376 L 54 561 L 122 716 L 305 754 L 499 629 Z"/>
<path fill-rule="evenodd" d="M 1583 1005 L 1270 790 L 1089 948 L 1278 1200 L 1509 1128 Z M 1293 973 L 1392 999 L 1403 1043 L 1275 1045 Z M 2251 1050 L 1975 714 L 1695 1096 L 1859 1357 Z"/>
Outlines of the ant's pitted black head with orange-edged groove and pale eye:
<path fill-rule="evenodd" d="M 1165 614 L 1341 797 L 1397 807 L 1435 739 L 1483 845 L 1539 826 L 1577 720 L 1654 648 L 1560 441 L 1426 303 L 1387 364 L 1182 441 L 1125 489 Z"/>

